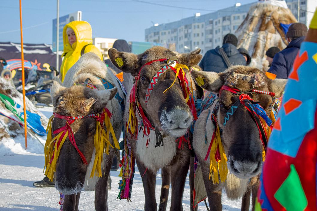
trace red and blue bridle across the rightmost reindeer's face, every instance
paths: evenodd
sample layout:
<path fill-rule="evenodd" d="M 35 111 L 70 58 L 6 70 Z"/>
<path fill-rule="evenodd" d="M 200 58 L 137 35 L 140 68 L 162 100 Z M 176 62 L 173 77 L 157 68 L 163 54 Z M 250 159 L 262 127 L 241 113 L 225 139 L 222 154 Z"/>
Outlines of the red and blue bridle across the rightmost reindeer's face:
<path fill-rule="evenodd" d="M 223 121 L 223 127 L 226 126 L 227 122 L 229 121 L 230 117 L 236 112 L 238 109 L 239 104 L 242 104 L 247 111 L 251 114 L 253 120 L 256 123 L 256 126 L 260 133 L 260 139 L 262 141 L 263 147 L 266 150 L 266 146 L 268 143 L 268 136 L 267 130 L 265 128 L 269 127 L 270 130 L 273 129 L 273 121 L 270 119 L 264 108 L 259 104 L 259 102 L 256 102 L 252 99 L 252 93 L 261 93 L 261 94 L 267 94 L 272 96 L 272 98 L 275 97 L 275 93 L 273 92 L 265 92 L 261 90 L 256 89 L 250 89 L 248 91 L 241 92 L 239 89 L 223 85 L 219 91 L 219 97 L 221 95 L 221 92 L 223 90 L 229 91 L 233 93 L 234 95 L 239 96 L 239 100 L 237 100 L 235 103 L 233 103 L 230 108 L 228 109 L 226 116 Z M 220 105 L 221 106 L 221 105 Z M 263 121 L 263 120 L 264 121 Z"/>

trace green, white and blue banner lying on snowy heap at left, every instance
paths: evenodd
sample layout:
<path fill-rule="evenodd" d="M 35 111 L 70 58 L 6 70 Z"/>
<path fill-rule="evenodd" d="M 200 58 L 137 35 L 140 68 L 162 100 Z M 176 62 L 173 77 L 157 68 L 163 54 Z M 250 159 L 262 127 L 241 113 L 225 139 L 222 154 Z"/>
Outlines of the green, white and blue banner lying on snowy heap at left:
<path fill-rule="evenodd" d="M 24 122 L 24 112 L 23 107 L 17 104 L 14 100 L 10 97 L 0 94 L 0 100 L 4 103 L 5 107 L 9 109 L 16 117 L 23 123 Z M 36 134 L 40 136 L 45 136 L 46 131 L 41 124 L 41 117 L 37 113 L 32 113 L 26 111 L 26 121 L 27 127 L 32 129 Z"/>

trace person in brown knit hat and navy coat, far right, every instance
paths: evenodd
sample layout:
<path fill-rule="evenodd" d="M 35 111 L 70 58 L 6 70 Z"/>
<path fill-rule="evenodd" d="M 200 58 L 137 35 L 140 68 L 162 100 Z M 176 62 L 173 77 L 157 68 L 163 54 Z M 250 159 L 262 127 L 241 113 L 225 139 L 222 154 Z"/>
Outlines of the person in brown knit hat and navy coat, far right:
<path fill-rule="evenodd" d="M 268 69 L 270 75 L 274 77 L 287 79 L 290 74 L 296 55 L 307 35 L 307 26 L 303 23 L 293 23 L 288 28 L 286 37 L 288 39 L 288 46 L 275 54 L 271 67 Z M 273 78 L 274 78 L 273 77 Z"/>

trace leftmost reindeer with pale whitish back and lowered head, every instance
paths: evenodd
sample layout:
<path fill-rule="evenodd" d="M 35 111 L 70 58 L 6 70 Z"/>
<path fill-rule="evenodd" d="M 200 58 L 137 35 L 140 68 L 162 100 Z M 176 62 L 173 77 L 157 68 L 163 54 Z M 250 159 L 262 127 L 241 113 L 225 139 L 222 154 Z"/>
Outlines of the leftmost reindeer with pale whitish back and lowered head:
<path fill-rule="evenodd" d="M 104 84 L 113 86 L 113 88 L 105 89 Z M 95 209 L 97 211 L 108 210 L 107 181 L 115 151 L 111 146 L 114 147 L 116 145 L 114 140 L 118 140 L 120 137 L 123 126 L 121 105 L 124 108 L 125 104 L 125 97 L 119 82 L 116 80 L 114 72 L 107 68 L 96 54 L 87 53 L 68 70 L 63 83 L 54 77 L 51 96 L 55 112 L 51 123 L 52 131 L 68 125 L 67 127 L 71 128 L 71 130 L 68 129 L 68 132 L 72 131 L 74 134 L 74 140 L 69 140 L 68 136 L 61 146 L 56 163 L 55 188 L 65 195 L 64 211 L 78 210 L 84 182 L 89 175 L 95 175 L 92 169 L 94 169 L 95 154 L 97 155 L 97 149 L 94 146 L 94 141 L 96 141 L 94 135 L 98 130 L 97 123 L 100 122 L 101 131 L 113 128 L 112 134 L 111 131 L 108 131 L 111 134 L 108 143 L 100 144 L 100 148 L 98 148 L 98 151 L 101 152 L 99 154 L 101 167 L 99 171 L 97 171 L 98 164 L 95 168 L 97 176 L 101 177 L 97 180 L 95 187 L 91 187 L 94 186 L 93 183 L 88 184 L 90 189 L 95 189 Z M 107 111 L 107 114 L 104 114 L 110 118 L 108 122 L 110 124 L 105 124 L 107 128 L 103 127 L 102 113 L 104 111 Z M 69 119 L 72 117 L 78 118 L 73 123 L 69 123 Z M 97 131 L 99 135 L 101 134 L 100 129 Z M 119 144 L 117 148 L 118 146 Z M 103 154 L 104 150 L 108 154 Z M 85 164 L 86 162 L 87 164 Z"/>

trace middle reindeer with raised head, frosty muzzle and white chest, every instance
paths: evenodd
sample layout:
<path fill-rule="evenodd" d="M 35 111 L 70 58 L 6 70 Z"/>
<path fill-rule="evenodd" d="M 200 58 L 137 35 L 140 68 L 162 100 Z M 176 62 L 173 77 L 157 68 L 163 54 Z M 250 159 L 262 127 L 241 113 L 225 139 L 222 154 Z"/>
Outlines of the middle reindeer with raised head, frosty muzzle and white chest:
<path fill-rule="evenodd" d="M 176 80 L 175 84 L 171 86 L 176 77 L 176 74 L 171 70 L 167 70 L 159 76 L 146 104 L 146 93 L 152 78 L 166 65 L 166 61 L 154 60 L 177 57 L 180 64 L 191 67 L 197 65 L 201 60 L 202 56 L 199 55 L 199 52 L 200 49 L 197 49 L 188 54 L 179 54 L 166 48 L 153 47 L 142 54 L 135 55 L 118 52 L 113 48 L 108 50 L 108 55 L 116 67 L 123 72 L 132 74 L 132 76 L 139 76 L 136 81 L 136 98 L 151 125 L 162 136 L 162 143 L 164 143 L 157 146 L 156 136 L 158 134 L 154 130 L 151 130 L 148 135 L 148 146 L 146 146 L 147 137 L 142 132 L 138 133 L 138 137 L 133 137 L 127 133 L 127 139 L 132 145 L 140 175 L 143 175 L 146 211 L 157 210 L 155 182 L 159 169 L 162 169 L 159 210 L 166 210 L 170 183 L 172 185 L 170 210 L 183 210 L 182 198 L 191 152 L 187 148 L 187 144 L 184 149 L 178 149 L 178 143 L 175 140 L 188 131 L 193 119 L 179 81 Z M 151 61 L 154 62 L 147 64 Z M 188 72 L 186 77 L 187 80 L 190 80 Z M 171 88 L 169 88 L 170 86 Z M 164 93 L 167 88 L 169 89 Z M 125 121 L 128 120 L 128 117 L 129 101 L 127 100 Z"/>

